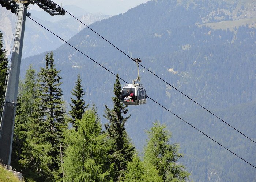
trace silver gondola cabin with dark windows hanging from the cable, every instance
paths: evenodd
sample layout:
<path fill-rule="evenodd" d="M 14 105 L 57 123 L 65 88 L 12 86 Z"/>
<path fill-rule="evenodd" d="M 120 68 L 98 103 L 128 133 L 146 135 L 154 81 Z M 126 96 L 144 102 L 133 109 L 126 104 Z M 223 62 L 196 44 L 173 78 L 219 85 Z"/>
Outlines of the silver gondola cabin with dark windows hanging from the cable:
<path fill-rule="evenodd" d="M 121 99 L 125 105 L 146 104 L 146 90 L 142 84 L 126 84 L 121 91 Z"/>

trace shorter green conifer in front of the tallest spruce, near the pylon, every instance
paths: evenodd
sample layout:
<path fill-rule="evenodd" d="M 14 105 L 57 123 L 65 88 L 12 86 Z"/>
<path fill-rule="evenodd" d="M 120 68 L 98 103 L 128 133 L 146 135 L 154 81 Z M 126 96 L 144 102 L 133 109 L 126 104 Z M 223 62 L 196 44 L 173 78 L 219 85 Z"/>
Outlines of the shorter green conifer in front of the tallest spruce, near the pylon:
<path fill-rule="evenodd" d="M 23 166 L 35 173 L 35 181 L 55 181 L 57 179 L 51 165 L 54 158 L 52 152 L 54 147 L 49 141 L 49 132 L 45 128 L 49 127 L 48 122 L 44 122 L 41 113 L 40 91 L 36 92 L 34 112 L 27 131 L 27 142 L 23 148 L 23 160 L 19 160 Z"/>

